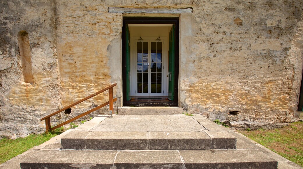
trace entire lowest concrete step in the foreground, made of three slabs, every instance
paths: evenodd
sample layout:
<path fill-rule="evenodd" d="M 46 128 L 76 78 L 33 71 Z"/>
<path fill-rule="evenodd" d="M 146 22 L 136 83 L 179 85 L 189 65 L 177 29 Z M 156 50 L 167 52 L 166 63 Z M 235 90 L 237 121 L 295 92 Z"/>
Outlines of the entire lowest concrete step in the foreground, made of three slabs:
<path fill-rule="evenodd" d="M 277 168 L 259 150 L 35 150 L 25 154 L 21 169 L 38 168 Z"/>

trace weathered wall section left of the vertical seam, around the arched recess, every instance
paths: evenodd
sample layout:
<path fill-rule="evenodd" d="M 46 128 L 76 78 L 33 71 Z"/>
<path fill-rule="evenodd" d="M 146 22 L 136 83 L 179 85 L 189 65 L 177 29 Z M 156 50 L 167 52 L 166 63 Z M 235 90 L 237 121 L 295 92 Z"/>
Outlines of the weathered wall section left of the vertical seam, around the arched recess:
<path fill-rule="evenodd" d="M 0 135 L 43 131 L 40 118 L 61 106 L 53 1 L 0 2 Z M 27 31 L 33 83 L 25 83 L 18 32 Z M 40 127 L 39 127 L 40 126 Z"/>

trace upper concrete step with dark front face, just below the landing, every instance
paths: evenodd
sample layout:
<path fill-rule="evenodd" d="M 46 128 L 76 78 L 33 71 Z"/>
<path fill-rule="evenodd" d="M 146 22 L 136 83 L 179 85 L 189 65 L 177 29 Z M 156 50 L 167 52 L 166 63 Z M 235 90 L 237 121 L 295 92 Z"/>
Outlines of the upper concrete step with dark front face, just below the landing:
<path fill-rule="evenodd" d="M 235 149 L 227 131 L 72 131 L 61 138 L 62 149 L 207 150 Z"/>

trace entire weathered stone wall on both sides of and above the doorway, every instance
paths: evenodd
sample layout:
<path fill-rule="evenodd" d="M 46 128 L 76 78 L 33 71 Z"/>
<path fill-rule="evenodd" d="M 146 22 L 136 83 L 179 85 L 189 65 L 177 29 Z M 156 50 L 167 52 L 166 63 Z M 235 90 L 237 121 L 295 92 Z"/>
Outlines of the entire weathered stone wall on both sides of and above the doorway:
<path fill-rule="evenodd" d="M 235 127 L 297 120 L 301 1 L 3 0 L 0 135 L 41 132 L 40 118 L 112 83 L 118 84 L 115 110 L 122 106 L 123 16 L 108 13 L 108 7 L 193 9 L 180 15 L 179 106 L 186 111 Z M 32 84 L 24 83 L 22 73 L 22 30 L 29 35 Z M 100 94 L 52 121 L 74 117 L 107 97 Z"/>

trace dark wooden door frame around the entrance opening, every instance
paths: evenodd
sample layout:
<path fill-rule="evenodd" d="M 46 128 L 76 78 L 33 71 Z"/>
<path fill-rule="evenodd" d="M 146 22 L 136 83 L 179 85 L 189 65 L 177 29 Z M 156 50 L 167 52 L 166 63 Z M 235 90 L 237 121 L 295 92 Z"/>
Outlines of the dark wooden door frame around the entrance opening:
<path fill-rule="evenodd" d="M 123 17 L 122 21 L 122 104 L 123 106 L 178 106 L 178 77 L 179 77 L 179 17 Z M 175 89 L 174 101 L 168 102 L 130 102 L 126 100 L 126 25 L 127 24 L 174 24 L 175 31 Z"/>

